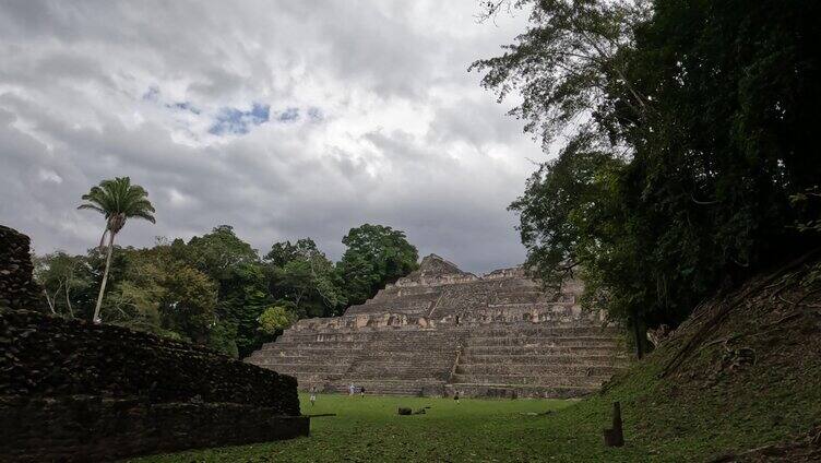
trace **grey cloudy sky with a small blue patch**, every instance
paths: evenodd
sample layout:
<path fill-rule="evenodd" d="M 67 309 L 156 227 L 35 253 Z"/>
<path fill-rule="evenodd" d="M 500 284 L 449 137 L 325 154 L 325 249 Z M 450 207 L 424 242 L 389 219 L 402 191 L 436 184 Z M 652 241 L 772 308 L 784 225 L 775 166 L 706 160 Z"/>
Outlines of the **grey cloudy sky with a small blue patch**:
<path fill-rule="evenodd" d="M 234 4 L 239 3 L 239 4 Z M 350 227 L 405 230 L 485 272 L 524 250 L 505 210 L 538 144 L 479 87 L 525 15 L 477 0 L 0 2 L 0 223 L 84 252 L 104 178 L 150 192 L 122 245 L 233 225 L 262 252 Z"/>

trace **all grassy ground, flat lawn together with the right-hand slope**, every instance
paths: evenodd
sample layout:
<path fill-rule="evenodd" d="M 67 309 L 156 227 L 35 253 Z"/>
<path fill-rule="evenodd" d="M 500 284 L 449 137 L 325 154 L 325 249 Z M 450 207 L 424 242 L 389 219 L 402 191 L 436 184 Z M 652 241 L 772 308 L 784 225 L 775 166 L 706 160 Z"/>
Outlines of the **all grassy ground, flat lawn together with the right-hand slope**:
<path fill-rule="evenodd" d="M 717 297 L 579 403 L 302 397 L 302 413 L 337 414 L 313 419 L 310 438 L 147 461 L 821 461 L 819 275 L 793 265 Z M 627 444 L 608 449 L 614 401 Z"/>

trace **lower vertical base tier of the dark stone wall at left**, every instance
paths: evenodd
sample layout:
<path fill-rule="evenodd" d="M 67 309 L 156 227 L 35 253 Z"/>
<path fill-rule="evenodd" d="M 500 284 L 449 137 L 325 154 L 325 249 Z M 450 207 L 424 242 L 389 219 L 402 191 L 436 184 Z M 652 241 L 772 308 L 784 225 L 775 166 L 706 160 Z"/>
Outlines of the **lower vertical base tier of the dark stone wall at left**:
<path fill-rule="evenodd" d="M 308 435 L 304 416 L 235 403 L 0 396 L 0 462 L 102 462 Z"/>

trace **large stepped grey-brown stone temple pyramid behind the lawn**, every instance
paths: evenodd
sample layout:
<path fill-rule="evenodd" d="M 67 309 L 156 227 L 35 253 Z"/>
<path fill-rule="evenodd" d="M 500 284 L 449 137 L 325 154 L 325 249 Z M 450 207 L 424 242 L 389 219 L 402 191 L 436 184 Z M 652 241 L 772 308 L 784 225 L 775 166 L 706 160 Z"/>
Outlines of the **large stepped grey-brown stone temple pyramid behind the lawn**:
<path fill-rule="evenodd" d="M 342 317 L 300 320 L 246 361 L 299 389 L 368 394 L 573 397 L 627 361 L 618 329 L 521 268 L 476 276 L 431 254 Z"/>

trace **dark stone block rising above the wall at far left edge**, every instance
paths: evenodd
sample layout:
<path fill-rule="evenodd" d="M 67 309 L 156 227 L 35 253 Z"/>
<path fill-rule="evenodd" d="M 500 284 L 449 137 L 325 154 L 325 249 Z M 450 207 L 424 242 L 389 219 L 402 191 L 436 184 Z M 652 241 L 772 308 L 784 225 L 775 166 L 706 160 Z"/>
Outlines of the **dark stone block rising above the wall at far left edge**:
<path fill-rule="evenodd" d="M 36 309 L 41 289 L 32 278 L 31 240 L 0 225 L 0 308 Z"/>

